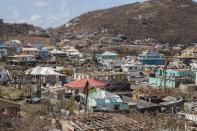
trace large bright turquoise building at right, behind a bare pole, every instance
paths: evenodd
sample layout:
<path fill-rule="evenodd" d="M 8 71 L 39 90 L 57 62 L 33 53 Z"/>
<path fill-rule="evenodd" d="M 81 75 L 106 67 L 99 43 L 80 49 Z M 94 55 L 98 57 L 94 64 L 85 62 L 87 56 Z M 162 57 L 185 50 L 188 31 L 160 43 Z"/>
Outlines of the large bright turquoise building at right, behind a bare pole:
<path fill-rule="evenodd" d="M 166 83 L 163 79 L 163 69 L 157 69 L 154 77 L 149 77 L 149 84 L 155 86 L 164 86 L 168 88 L 178 87 L 180 83 L 192 83 L 195 80 L 195 72 L 187 69 L 167 69 Z M 163 79 L 163 80 L 162 80 Z"/>

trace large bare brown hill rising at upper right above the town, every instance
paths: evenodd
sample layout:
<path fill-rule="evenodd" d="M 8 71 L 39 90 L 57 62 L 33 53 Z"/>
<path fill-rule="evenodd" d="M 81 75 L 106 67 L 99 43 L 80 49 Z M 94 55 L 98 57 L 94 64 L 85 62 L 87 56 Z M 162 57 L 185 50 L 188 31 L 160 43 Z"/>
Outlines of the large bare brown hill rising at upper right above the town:
<path fill-rule="evenodd" d="M 160 42 L 197 41 L 197 3 L 191 0 L 150 0 L 83 14 L 55 31 L 77 31 L 100 36 L 126 34 L 130 40 L 154 38 Z"/>

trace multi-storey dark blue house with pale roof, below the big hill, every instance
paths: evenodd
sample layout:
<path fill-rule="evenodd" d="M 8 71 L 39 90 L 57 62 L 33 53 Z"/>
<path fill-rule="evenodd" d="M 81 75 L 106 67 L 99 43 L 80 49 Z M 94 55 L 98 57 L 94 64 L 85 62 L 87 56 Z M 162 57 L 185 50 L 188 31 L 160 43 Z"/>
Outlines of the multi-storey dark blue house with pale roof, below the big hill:
<path fill-rule="evenodd" d="M 165 58 L 162 54 L 153 51 L 144 51 L 138 55 L 138 60 L 143 65 L 164 65 Z"/>

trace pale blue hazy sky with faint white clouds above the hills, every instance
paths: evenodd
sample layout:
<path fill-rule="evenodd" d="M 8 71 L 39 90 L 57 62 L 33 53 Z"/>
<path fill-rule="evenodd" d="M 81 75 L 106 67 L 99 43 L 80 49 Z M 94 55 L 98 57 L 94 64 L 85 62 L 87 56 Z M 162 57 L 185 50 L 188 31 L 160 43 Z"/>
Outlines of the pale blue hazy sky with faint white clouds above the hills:
<path fill-rule="evenodd" d="M 0 0 L 0 18 L 57 27 L 82 13 L 143 0 Z"/>

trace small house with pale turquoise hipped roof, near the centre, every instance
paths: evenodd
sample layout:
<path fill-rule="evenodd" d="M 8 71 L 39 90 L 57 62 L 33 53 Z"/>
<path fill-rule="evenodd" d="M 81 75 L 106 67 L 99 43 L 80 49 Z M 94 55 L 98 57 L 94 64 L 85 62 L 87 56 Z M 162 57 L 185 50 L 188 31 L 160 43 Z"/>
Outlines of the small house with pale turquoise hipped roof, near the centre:
<path fill-rule="evenodd" d="M 117 57 L 118 57 L 118 54 L 117 53 L 105 51 L 104 53 L 102 53 L 99 56 L 99 59 L 101 59 L 101 60 L 116 60 Z"/>

